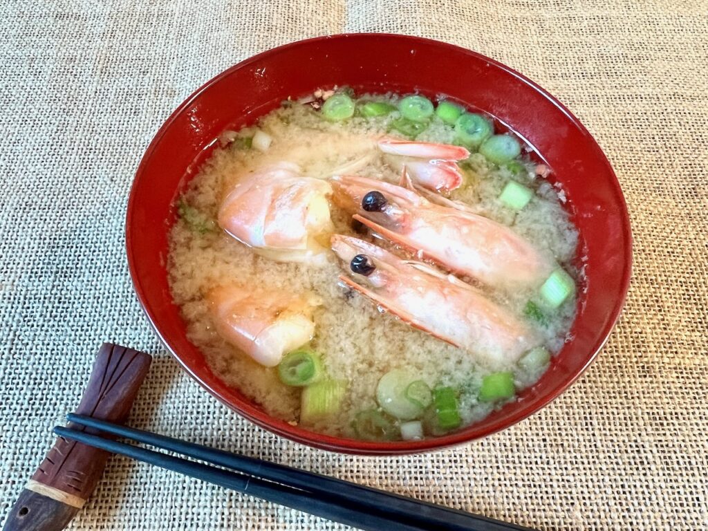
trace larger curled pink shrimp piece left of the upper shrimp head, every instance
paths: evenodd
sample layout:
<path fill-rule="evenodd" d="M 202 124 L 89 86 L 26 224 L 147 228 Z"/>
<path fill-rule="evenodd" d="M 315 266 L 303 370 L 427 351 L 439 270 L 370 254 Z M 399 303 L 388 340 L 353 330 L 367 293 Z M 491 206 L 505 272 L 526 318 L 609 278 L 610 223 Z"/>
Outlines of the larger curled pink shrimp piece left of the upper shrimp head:
<path fill-rule="evenodd" d="M 295 164 L 268 166 L 236 183 L 219 209 L 219 226 L 254 251 L 282 262 L 322 265 L 333 225 L 326 181 Z"/>

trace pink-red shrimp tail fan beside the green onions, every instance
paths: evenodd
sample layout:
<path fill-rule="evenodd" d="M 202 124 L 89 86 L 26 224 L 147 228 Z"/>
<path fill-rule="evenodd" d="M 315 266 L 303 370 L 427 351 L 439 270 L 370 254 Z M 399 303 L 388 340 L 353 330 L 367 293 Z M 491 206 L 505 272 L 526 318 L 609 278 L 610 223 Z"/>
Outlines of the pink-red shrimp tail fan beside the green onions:
<path fill-rule="evenodd" d="M 380 139 L 378 145 L 382 152 L 398 156 L 399 166 L 406 166 L 413 181 L 429 190 L 450 192 L 464 180 L 455 164 L 469 156 L 464 147 L 392 138 Z"/>

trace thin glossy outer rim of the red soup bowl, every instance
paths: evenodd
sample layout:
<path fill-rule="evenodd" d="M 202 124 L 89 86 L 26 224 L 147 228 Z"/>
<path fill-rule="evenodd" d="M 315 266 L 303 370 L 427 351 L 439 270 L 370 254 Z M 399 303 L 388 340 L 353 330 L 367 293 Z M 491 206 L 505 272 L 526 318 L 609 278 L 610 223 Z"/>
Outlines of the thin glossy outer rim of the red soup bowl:
<path fill-rule="evenodd" d="M 516 79 L 521 81 L 523 84 L 527 85 L 530 89 L 533 91 L 536 91 L 539 93 L 541 96 L 546 98 L 550 103 L 552 103 L 557 109 L 559 109 L 566 117 L 572 122 L 572 124 L 577 127 L 584 135 L 586 135 L 588 138 L 594 142 L 595 146 L 597 146 L 597 151 L 598 151 L 598 158 L 600 163 L 605 166 L 609 176 L 612 177 L 612 188 L 614 188 L 615 195 L 617 196 L 619 200 L 619 204 L 622 207 L 622 212 L 621 212 L 621 217 L 622 217 L 622 236 L 624 238 L 624 241 L 627 241 L 627 246 L 624 248 L 624 270 L 622 271 L 622 278 L 619 283 L 620 287 L 620 292 L 621 296 L 617 297 L 615 299 L 615 303 L 612 305 L 612 311 L 609 313 L 609 319 L 605 321 L 605 326 L 603 327 L 602 331 L 598 335 L 598 342 L 595 343 L 595 347 L 593 348 L 593 351 L 589 353 L 587 362 L 580 367 L 580 369 L 576 370 L 574 373 L 571 374 L 571 377 L 566 379 L 561 386 L 559 386 L 557 389 L 554 389 L 553 392 L 547 394 L 547 396 L 544 396 L 541 401 L 539 401 L 539 404 L 535 409 L 532 409 L 530 411 L 519 411 L 518 413 L 515 413 L 511 416 L 508 416 L 507 418 L 504 419 L 504 421 L 497 421 L 496 423 L 491 423 L 491 426 L 489 426 L 488 429 L 484 431 L 484 434 L 480 435 L 479 437 L 472 437 L 470 435 L 467 435 L 464 433 L 464 431 L 460 431 L 457 433 L 451 433 L 449 435 L 442 435 L 439 437 L 435 438 L 428 438 L 428 439 L 423 439 L 423 440 L 417 440 L 417 441 L 394 441 L 394 442 L 374 442 L 374 441 L 365 441 L 365 440 L 358 440 L 358 439 L 350 439 L 350 438 L 339 438 L 339 437 L 333 437 L 332 435 L 325 435 L 322 433 L 316 433 L 312 432 L 309 430 L 304 430 L 303 428 L 299 428 L 297 426 L 290 426 L 287 425 L 287 423 L 283 423 L 284 426 L 273 426 L 272 422 L 269 422 L 270 420 L 275 419 L 272 416 L 269 416 L 266 414 L 264 411 L 261 411 L 257 409 L 255 406 L 250 406 L 250 405 L 245 405 L 244 404 L 233 404 L 232 401 L 227 400 L 222 394 L 212 387 L 212 385 L 209 382 L 206 382 L 205 379 L 198 375 L 195 370 L 193 370 L 192 367 L 190 367 L 182 358 L 181 355 L 179 355 L 176 350 L 171 346 L 170 341 L 168 338 L 166 338 L 163 333 L 161 333 L 159 327 L 157 326 L 157 321 L 159 321 L 159 317 L 156 316 L 156 312 L 152 305 L 149 303 L 149 300 L 147 299 L 147 295 L 145 294 L 142 285 L 141 285 L 141 280 L 139 278 L 139 275 L 137 274 L 137 269 L 136 269 L 136 263 L 139 261 L 139 256 L 137 256 L 137 253 L 133 249 L 133 242 L 134 242 L 134 236 L 132 234 L 132 218 L 133 218 L 133 212 L 134 212 L 134 205 L 136 201 L 136 195 L 137 195 L 137 183 L 139 181 L 140 176 L 144 175 L 144 170 L 145 167 L 148 164 L 149 159 L 151 159 L 152 154 L 154 151 L 157 149 L 158 145 L 161 143 L 161 140 L 163 139 L 164 135 L 166 134 L 167 130 L 170 129 L 171 125 L 173 122 L 178 118 L 181 113 L 183 113 L 187 108 L 190 107 L 190 105 L 193 104 L 193 102 L 199 98 L 202 93 L 207 91 L 207 89 L 210 89 L 211 86 L 218 84 L 222 79 L 225 77 L 229 76 L 234 72 L 236 69 L 241 69 L 244 67 L 247 67 L 249 64 L 253 62 L 258 62 L 261 59 L 264 59 L 266 57 L 269 57 L 271 55 L 278 54 L 282 51 L 288 50 L 293 47 L 298 47 L 298 46 L 307 46 L 307 45 L 312 45 L 313 43 L 317 42 L 325 42 L 327 40 L 332 40 L 332 39 L 348 39 L 348 38 L 390 38 L 390 39 L 398 39 L 398 40 L 407 40 L 411 42 L 411 44 L 415 44 L 416 42 L 421 43 L 424 42 L 428 45 L 433 44 L 436 46 L 442 46 L 442 47 L 448 47 L 452 50 L 455 50 L 456 52 L 462 53 L 464 55 L 468 55 L 469 57 L 474 57 L 477 60 L 483 60 L 487 63 L 489 63 L 490 66 L 496 67 L 498 69 L 503 70 L 504 72 L 514 76 Z M 458 445 L 463 445 L 467 444 L 469 442 L 472 442 L 473 440 L 476 440 L 477 438 L 485 438 L 489 435 L 493 435 L 494 433 L 497 433 L 498 431 L 504 430 L 506 428 L 510 428 L 511 426 L 514 426 L 517 423 L 520 423 L 521 421 L 525 420 L 526 418 L 532 416 L 533 414 L 537 413 L 539 410 L 543 409 L 546 407 L 548 404 L 550 404 L 552 401 L 554 401 L 560 394 L 565 392 L 573 383 L 575 383 L 581 375 L 583 375 L 584 372 L 588 369 L 588 367 L 593 363 L 595 358 L 597 358 L 598 353 L 600 353 L 600 350 L 605 346 L 607 343 L 608 339 L 610 338 L 610 334 L 612 333 L 612 330 L 615 328 L 615 324 L 617 324 L 617 321 L 619 319 L 620 314 L 622 313 L 622 309 L 624 307 L 624 303 L 627 299 L 627 292 L 629 291 L 629 283 L 630 283 L 630 278 L 632 276 L 632 249 L 633 249 L 633 239 L 632 239 L 632 230 L 630 226 L 630 219 L 629 219 L 629 212 L 627 210 L 627 202 L 624 199 L 624 194 L 622 193 L 622 188 L 621 185 L 619 184 L 619 181 L 617 179 L 617 175 L 615 174 L 615 171 L 612 169 L 612 165 L 610 164 L 610 161 L 607 159 L 607 156 L 603 152 L 603 149 L 600 147 L 600 144 L 598 144 L 597 140 L 593 135 L 590 134 L 590 132 L 587 130 L 587 128 L 582 124 L 578 118 L 576 118 L 571 111 L 566 108 L 566 106 L 558 101 L 554 96 L 552 96 L 551 93 L 543 89 L 541 86 L 536 84 L 534 81 L 531 79 L 528 79 L 526 76 L 523 74 L 520 74 L 520 72 L 517 72 L 515 69 L 512 69 L 510 67 L 507 67 L 505 64 L 502 64 L 501 62 L 496 61 L 495 59 L 491 59 L 490 57 L 486 57 L 485 55 L 480 54 L 479 52 L 474 52 L 473 50 L 468 50 L 467 48 L 457 46 L 450 44 L 448 42 L 442 42 L 440 40 L 435 40 L 435 39 L 428 39 L 428 38 L 422 38 L 422 37 L 417 37 L 414 35 L 401 35 L 401 34 L 394 34 L 394 33 L 339 33 L 339 34 L 333 34 L 333 35 L 322 35 L 319 37 L 314 37 L 314 38 L 308 38 L 304 40 L 297 40 L 294 42 L 287 42 L 284 45 L 280 45 L 277 47 L 270 48 L 268 50 L 265 50 L 263 52 L 258 53 L 257 55 L 253 55 L 247 59 L 244 59 L 241 62 L 238 62 L 232 67 L 227 68 L 223 72 L 217 74 L 216 76 L 212 77 L 209 81 L 206 81 L 202 86 L 200 86 L 198 89 L 196 89 L 193 93 L 190 94 L 185 100 L 178 105 L 178 107 L 173 110 L 173 112 L 169 115 L 169 117 L 165 120 L 165 122 L 159 127 L 159 130 L 155 133 L 152 141 L 150 142 L 149 146 L 145 150 L 139 165 L 137 166 L 137 169 L 135 171 L 135 177 L 132 182 L 131 188 L 130 188 L 130 195 L 128 196 L 128 202 L 127 202 L 127 213 L 126 213 L 126 228 L 125 228 L 125 247 L 127 251 L 127 261 L 128 261 L 128 266 L 130 270 L 130 278 L 132 281 L 133 288 L 135 289 L 135 293 L 137 295 L 138 301 L 140 303 L 140 306 L 143 309 L 144 314 L 147 316 L 147 319 L 149 321 L 150 326 L 152 326 L 152 329 L 155 331 L 156 335 L 158 336 L 159 340 L 161 343 L 166 347 L 167 350 L 173 355 L 174 358 L 179 362 L 179 364 L 183 367 L 185 372 L 190 375 L 193 379 L 195 379 L 204 389 L 207 390 L 212 396 L 214 396 L 219 402 L 222 404 L 226 405 L 229 407 L 229 409 L 232 409 L 236 411 L 240 416 L 243 416 L 247 418 L 249 421 L 252 421 L 253 423 L 256 423 L 256 425 L 261 426 L 261 428 L 264 428 L 272 433 L 275 433 L 276 435 L 280 435 L 282 437 L 285 437 L 287 439 L 293 440 L 295 442 L 302 443 L 304 445 L 309 445 L 311 447 L 316 447 L 321 450 L 329 450 L 329 451 L 336 451 L 336 452 L 343 452 L 343 453 L 348 453 L 348 454 L 359 454 L 359 455 L 404 455 L 404 454 L 416 454 L 416 453 L 421 453 L 421 452 L 433 452 L 433 451 L 438 451 L 438 450 L 443 450 L 448 447 L 454 447 Z M 217 378 L 216 376 L 214 376 Z M 250 411 L 249 411 L 250 410 Z M 275 419 L 278 420 L 278 419 Z M 309 435 L 309 436 L 308 436 Z"/>

